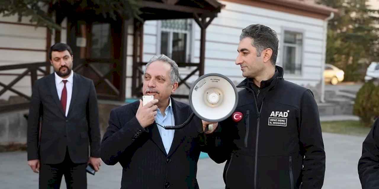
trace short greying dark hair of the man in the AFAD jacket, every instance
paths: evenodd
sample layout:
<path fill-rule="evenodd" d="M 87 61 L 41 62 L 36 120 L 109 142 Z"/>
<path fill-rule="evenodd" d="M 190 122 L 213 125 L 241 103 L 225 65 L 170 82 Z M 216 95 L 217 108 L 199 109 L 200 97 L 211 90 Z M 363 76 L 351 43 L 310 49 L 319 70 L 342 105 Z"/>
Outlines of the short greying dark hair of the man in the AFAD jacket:
<path fill-rule="evenodd" d="M 271 48 L 271 50 L 273 50 L 270 59 L 271 64 L 276 64 L 279 40 L 273 29 L 262 24 L 252 24 L 242 29 L 240 40 L 243 40 L 246 37 L 253 39 L 251 45 L 257 49 L 257 56 L 260 56 L 262 51 L 266 48 Z"/>

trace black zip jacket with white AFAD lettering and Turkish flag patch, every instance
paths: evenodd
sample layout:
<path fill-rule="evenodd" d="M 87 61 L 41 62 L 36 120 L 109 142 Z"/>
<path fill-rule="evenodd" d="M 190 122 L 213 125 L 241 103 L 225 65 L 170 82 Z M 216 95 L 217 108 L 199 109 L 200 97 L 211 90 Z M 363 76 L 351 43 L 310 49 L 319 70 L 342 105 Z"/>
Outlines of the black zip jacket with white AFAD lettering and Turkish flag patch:
<path fill-rule="evenodd" d="M 325 174 L 325 152 L 318 107 L 313 93 L 285 81 L 283 69 L 265 88 L 258 109 L 248 79 L 238 88 L 235 112 L 219 123 L 207 137 L 215 147 L 208 155 L 216 163 L 226 162 L 227 189 L 320 189 Z M 304 166 L 304 167 L 303 167 Z"/>

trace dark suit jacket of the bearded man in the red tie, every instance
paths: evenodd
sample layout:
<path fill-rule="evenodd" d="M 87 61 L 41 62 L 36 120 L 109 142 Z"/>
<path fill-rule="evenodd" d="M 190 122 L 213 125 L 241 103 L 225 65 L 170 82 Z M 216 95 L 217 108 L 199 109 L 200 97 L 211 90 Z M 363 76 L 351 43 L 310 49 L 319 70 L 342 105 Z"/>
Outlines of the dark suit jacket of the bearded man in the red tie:
<path fill-rule="evenodd" d="M 86 163 L 100 157 L 100 128 L 96 90 L 92 80 L 74 73 L 72 97 L 67 117 L 55 86 L 55 75 L 38 79 L 33 86 L 28 116 L 28 160 L 44 164 L 64 160 L 66 149 L 72 162 Z M 41 141 L 38 120 L 42 116 Z"/>

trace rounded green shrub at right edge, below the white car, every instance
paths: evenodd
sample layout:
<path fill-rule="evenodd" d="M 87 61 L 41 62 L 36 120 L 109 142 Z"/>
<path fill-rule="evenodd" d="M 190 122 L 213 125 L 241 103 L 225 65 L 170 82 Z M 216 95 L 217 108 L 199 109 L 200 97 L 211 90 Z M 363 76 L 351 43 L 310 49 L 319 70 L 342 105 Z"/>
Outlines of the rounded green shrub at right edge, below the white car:
<path fill-rule="evenodd" d="M 366 82 L 359 89 L 353 108 L 353 114 L 360 117 L 366 127 L 371 127 L 379 116 L 379 87 L 374 81 Z"/>

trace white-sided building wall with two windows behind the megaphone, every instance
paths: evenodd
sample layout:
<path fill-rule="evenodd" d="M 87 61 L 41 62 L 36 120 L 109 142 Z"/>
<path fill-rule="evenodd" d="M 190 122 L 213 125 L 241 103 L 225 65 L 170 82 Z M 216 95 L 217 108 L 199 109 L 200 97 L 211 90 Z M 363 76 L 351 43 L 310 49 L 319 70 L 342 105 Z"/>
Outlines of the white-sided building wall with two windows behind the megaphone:
<path fill-rule="evenodd" d="M 327 22 L 335 9 L 301 0 L 222 0 L 224 8 L 207 28 L 205 71 L 228 76 L 235 84 L 244 78 L 235 65 L 239 36 L 251 24 L 274 29 L 279 38 L 276 64 L 283 67 L 284 79 L 312 89 L 317 101 L 324 94 Z M 185 25 L 187 27 L 185 27 Z M 179 40 L 179 42 L 172 41 Z M 153 20 L 144 25 L 143 61 L 155 54 L 186 52 L 182 59 L 199 62 L 200 28 L 189 20 Z M 191 72 L 182 68 L 185 77 Z M 196 80 L 194 75 L 189 82 Z M 185 86 L 180 89 L 187 90 Z M 179 91 L 180 92 L 180 91 Z"/>

